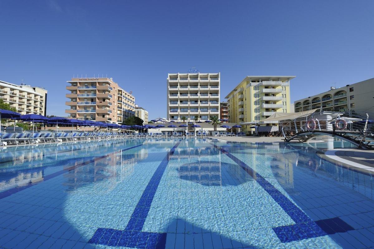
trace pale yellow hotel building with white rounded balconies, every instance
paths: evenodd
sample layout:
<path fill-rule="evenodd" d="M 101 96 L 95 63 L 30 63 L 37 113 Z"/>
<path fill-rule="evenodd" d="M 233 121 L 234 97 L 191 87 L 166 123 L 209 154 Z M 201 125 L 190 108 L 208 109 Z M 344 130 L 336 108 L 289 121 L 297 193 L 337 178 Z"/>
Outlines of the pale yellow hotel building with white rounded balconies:
<path fill-rule="evenodd" d="M 291 112 L 289 81 L 295 76 L 247 76 L 227 96 L 229 122 L 260 121 L 274 112 Z M 260 122 L 277 126 L 278 122 Z"/>

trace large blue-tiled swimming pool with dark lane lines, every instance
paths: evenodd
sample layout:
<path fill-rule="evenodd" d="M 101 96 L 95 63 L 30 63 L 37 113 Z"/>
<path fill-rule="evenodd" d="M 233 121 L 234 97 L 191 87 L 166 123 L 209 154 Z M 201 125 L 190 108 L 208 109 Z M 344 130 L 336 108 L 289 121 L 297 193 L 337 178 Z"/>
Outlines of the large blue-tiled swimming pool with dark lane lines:
<path fill-rule="evenodd" d="M 0 152 L 0 248 L 369 248 L 373 176 L 347 144 L 149 138 Z"/>

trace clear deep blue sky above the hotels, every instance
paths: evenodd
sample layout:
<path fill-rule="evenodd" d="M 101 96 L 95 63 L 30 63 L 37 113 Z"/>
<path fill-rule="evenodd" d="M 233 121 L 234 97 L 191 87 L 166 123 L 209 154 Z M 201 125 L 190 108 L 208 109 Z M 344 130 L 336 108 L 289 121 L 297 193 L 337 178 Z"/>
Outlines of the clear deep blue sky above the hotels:
<path fill-rule="evenodd" d="M 0 1 L 0 79 L 48 90 L 64 115 L 73 74 L 108 75 L 150 119 L 166 77 L 221 72 L 221 101 L 246 75 L 296 75 L 291 101 L 374 77 L 374 1 Z"/>

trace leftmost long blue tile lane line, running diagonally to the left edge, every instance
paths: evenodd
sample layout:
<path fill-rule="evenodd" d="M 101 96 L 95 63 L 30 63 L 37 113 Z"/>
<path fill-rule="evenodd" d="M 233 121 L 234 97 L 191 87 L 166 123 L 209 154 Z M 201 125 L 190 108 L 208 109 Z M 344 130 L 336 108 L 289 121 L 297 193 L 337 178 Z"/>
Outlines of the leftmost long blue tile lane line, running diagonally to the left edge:
<path fill-rule="evenodd" d="M 135 145 L 135 146 L 132 146 L 132 147 L 126 148 L 126 149 L 122 149 L 122 150 L 121 150 L 121 153 L 124 152 L 124 151 L 126 151 L 126 150 L 131 150 L 131 149 L 134 149 L 134 148 L 136 148 L 136 147 L 142 146 L 143 144 L 144 144 L 144 143 L 141 143 L 141 144 L 138 144 L 138 145 Z M 109 154 L 104 155 L 104 156 L 98 156 L 98 157 L 92 158 L 92 159 L 90 159 L 90 160 L 88 160 L 88 161 L 82 162 L 81 164 L 77 164 L 77 165 L 74 165 L 74 166 L 70 166 L 69 168 L 62 169 L 62 170 L 60 170 L 60 171 L 57 171 L 57 172 L 54 172 L 54 173 L 52 173 L 52 174 L 46 175 L 46 176 L 43 178 L 42 181 L 36 182 L 36 183 L 34 183 L 34 184 L 30 183 L 30 184 L 25 185 L 25 186 L 22 186 L 22 187 L 14 187 L 14 188 L 12 188 L 12 189 L 5 190 L 5 191 L 3 191 L 3 192 L 0 193 L 0 199 L 3 199 L 3 198 L 8 197 L 8 196 L 11 196 L 12 194 L 18 193 L 18 192 L 20 192 L 20 191 L 22 191 L 22 190 L 24 190 L 24 189 L 28 189 L 28 188 L 31 187 L 31 186 L 34 186 L 34 185 L 39 184 L 39 183 L 42 183 L 43 181 L 47 181 L 47 180 L 52 179 L 52 178 L 54 178 L 54 177 L 56 177 L 56 176 L 58 176 L 58 175 L 64 174 L 64 173 L 66 173 L 66 172 L 69 172 L 69 171 L 74 170 L 74 169 L 76 169 L 76 168 L 79 168 L 79 167 L 81 167 L 81 166 L 85 166 L 85 165 L 87 165 L 87 164 L 92 164 L 93 162 L 95 162 L 95 161 L 97 161 L 97 160 L 100 160 L 100 159 L 103 159 L 103 158 L 110 157 L 110 156 L 112 156 L 113 154 L 116 154 L 116 153 L 118 153 L 118 152 L 109 153 Z"/>

